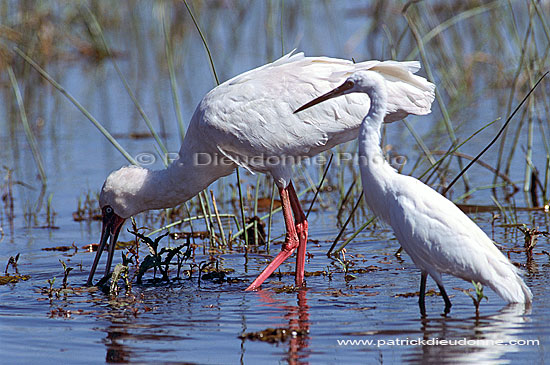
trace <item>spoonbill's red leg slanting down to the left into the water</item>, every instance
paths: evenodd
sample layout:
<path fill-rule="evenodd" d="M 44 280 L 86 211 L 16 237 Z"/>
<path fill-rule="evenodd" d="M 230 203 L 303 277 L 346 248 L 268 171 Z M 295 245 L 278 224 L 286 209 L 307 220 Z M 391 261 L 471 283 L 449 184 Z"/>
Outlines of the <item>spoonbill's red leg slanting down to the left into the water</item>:
<path fill-rule="evenodd" d="M 291 186 L 291 185 L 289 185 Z M 291 188 L 294 192 L 294 188 Z M 279 193 L 281 194 L 281 201 L 283 206 L 283 216 L 285 219 L 286 226 L 286 238 L 285 243 L 283 244 L 283 249 L 281 252 L 271 261 L 271 263 L 264 269 L 264 271 L 250 284 L 246 290 L 254 290 L 258 288 L 262 283 L 275 271 L 282 263 L 285 261 L 300 245 L 298 240 L 298 235 L 296 233 L 296 226 L 294 224 L 294 218 L 292 217 L 292 207 L 291 200 L 289 198 L 289 189 L 279 188 Z M 294 192 L 294 196 L 296 193 Z"/>

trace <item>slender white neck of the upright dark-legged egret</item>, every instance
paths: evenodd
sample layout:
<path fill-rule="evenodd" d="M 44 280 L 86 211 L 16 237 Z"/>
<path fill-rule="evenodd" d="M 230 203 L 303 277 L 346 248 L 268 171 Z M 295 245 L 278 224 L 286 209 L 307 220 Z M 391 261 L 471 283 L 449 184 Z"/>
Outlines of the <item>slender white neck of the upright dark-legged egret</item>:
<path fill-rule="evenodd" d="M 386 114 L 386 93 L 382 88 L 368 93 L 371 106 L 359 129 L 359 161 L 365 200 L 373 213 L 389 221 L 385 197 L 389 194 L 396 171 L 386 162 L 380 147 L 380 128 Z"/>

